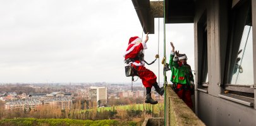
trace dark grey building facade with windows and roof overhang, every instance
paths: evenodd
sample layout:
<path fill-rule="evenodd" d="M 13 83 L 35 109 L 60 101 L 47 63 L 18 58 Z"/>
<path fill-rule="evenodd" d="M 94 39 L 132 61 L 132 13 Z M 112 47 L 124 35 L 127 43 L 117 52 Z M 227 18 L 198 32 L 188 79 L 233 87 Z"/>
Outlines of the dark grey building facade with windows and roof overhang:
<path fill-rule="evenodd" d="M 193 23 L 194 109 L 206 125 L 256 125 L 255 0 L 132 2 L 144 33 L 154 18 Z"/>

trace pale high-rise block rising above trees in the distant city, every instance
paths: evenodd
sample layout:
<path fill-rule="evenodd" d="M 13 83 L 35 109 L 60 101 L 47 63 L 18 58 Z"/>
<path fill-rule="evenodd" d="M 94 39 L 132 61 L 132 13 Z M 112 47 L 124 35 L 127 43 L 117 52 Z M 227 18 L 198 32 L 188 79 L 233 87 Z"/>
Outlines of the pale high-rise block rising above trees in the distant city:
<path fill-rule="evenodd" d="M 107 88 L 91 86 L 89 89 L 88 99 L 91 101 L 96 101 L 97 106 L 106 105 L 107 104 Z"/>

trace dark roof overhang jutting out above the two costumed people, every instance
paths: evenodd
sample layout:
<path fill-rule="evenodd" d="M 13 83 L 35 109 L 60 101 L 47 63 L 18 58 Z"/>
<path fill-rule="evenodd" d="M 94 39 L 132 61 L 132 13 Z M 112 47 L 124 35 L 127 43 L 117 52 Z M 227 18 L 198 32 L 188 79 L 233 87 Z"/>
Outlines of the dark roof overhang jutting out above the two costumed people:
<path fill-rule="evenodd" d="M 144 33 L 154 33 L 154 18 L 163 18 L 163 1 L 131 0 Z M 166 23 L 193 23 L 194 0 L 166 0 Z"/>

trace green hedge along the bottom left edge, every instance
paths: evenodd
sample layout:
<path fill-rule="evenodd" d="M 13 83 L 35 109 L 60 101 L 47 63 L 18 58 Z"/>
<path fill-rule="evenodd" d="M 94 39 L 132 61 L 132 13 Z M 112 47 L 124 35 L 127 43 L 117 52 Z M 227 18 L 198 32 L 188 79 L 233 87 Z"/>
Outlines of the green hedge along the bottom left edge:
<path fill-rule="evenodd" d="M 50 119 L 36 119 L 36 118 L 16 118 L 0 120 L 0 125 L 6 126 L 110 126 L 110 125 L 137 125 L 136 122 L 118 122 L 117 120 L 71 120 L 68 118 L 50 118 Z"/>

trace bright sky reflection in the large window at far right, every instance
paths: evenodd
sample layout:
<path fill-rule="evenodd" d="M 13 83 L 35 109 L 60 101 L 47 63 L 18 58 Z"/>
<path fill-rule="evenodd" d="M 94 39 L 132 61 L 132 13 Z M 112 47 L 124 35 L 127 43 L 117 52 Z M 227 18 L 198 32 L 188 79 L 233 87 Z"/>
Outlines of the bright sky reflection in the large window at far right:
<path fill-rule="evenodd" d="M 253 84 L 252 26 L 243 30 L 231 84 Z"/>

